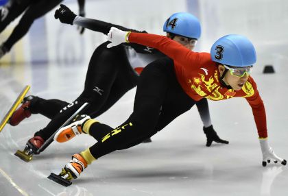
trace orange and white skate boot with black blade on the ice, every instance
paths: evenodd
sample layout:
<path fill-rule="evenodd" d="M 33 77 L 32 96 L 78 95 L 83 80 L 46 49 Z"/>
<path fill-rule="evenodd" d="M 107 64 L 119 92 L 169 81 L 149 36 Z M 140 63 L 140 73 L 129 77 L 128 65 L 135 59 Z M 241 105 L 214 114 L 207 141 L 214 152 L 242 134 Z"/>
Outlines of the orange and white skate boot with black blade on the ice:
<path fill-rule="evenodd" d="M 80 154 L 74 154 L 59 175 L 51 173 L 48 178 L 63 186 L 72 184 L 71 180 L 80 177 L 80 173 L 87 167 L 86 160 Z"/>

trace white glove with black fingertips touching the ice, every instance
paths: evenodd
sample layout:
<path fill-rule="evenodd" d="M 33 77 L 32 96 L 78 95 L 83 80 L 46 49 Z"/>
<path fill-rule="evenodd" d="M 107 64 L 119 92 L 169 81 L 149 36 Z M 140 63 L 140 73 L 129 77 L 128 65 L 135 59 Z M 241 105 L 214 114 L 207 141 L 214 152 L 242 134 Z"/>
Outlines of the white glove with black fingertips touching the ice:
<path fill-rule="evenodd" d="M 267 138 L 259 138 L 259 141 L 263 155 L 263 161 L 262 161 L 263 167 L 267 165 L 267 162 L 268 163 L 271 162 L 271 160 L 274 160 L 274 163 L 277 163 L 279 161 L 281 164 L 286 165 L 287 161 L 283 158 L 278 157 L 274 153 L 272 147 L 270 147 L 268 144 Z"/>

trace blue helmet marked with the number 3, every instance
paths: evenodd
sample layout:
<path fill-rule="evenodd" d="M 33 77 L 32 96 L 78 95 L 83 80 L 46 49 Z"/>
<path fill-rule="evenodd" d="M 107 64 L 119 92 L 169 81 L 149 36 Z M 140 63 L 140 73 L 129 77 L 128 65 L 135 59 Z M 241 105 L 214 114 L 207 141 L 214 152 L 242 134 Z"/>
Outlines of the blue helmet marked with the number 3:
<path fill-rule="evenodd" d="M 248 38 L 231 34 L 219 38 L 213 44 L 211 58 L 230 66 L 251 66 L 256 62 L 256 51 Z"/>

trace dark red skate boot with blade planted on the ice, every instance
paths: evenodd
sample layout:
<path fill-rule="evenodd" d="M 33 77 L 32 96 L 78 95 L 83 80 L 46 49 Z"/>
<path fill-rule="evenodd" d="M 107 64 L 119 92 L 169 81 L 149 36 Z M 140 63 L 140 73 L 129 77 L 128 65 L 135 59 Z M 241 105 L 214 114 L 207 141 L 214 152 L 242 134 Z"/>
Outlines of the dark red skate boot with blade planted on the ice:
<path fill-rule="evenodd" d="M 39 154 L 38 149 L 43 145 L 45 140 L 40 136 L 34 136 L 29 139 L 23 151 L 17 150 L 15 155 L 22 160 L 29 162 L 33 158 L 33 154 Z"/>

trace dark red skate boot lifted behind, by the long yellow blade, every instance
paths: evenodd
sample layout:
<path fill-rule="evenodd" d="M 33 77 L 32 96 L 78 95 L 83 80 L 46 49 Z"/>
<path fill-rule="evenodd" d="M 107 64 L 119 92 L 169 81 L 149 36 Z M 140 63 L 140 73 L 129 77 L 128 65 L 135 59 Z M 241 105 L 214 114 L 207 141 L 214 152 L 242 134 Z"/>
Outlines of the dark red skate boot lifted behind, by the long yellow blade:
<path fill-rule="evenodd" d="M 16 126 L 25 118 L 29 118 L 31 116 L 32 113 L 30 112 L 29 107 L 32 99 L 34 99 L 34 96 L 32 95 L 23 99 L 22 106 L 20 106 L 10 117 L 10 125 Z"/>

